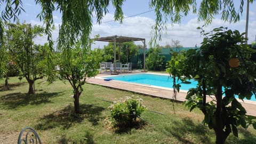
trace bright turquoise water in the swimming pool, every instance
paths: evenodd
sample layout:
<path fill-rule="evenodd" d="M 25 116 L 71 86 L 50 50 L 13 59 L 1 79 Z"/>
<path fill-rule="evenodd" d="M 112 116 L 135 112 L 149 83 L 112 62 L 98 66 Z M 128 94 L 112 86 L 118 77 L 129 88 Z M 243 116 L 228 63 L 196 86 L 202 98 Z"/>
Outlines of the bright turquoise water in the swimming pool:
<path fill-rule="evenodd" d="M 117 75 L 117 76 L 108 76 L 103 77 L 108 79 L 114 79 L 116 81 L 131 82 L 137 84 L 161 86 L 167 88 L 173 88 L 173 79 L 169 75 L 157 75 L 157 74 L 131 74 L 131 75 Z M 188 91 L 192 87 L 196 87 L 197 82 L 190 80 L 191 84 L 180 84 L 181 90 Z M 178 82 L 180 83 L 180 82 Z M 256 101 L 255 97 L 251 98 L 252 101 Z"/>

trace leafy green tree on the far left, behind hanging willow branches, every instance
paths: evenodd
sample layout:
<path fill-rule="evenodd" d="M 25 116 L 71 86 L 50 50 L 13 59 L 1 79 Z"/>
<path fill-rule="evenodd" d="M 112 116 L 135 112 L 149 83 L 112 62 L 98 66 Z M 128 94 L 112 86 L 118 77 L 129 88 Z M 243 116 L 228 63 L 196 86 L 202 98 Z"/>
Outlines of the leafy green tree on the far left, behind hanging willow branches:
<path fill-rule="evenodd" d="M 29 94 L 35 93 L 34 83 L 45 76 L 45 60 L 49 46 L 35 45 L 33 39 L 42 35 L 44 28 L 26 23 L 6 23 L 6 40 L 11 59 L 29 83 Z"/>

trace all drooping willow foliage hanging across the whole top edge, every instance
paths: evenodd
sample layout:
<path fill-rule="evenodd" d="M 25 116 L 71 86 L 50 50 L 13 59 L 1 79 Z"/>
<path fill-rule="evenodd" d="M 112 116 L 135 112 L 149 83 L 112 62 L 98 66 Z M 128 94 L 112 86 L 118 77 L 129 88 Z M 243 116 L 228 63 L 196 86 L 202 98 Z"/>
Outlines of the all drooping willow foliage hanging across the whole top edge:
<path fill-rule="evenodd" d="M 249 0 L 251 3 L 253 0 Z M 92 30 L 92 17 L 95 12 L 97 23 L 101 23 L 102 18 L 108 12 L 110 1 L 95 1 L 95 0 L 75 0 L 75 1 L 39 1 L 35 0 L 36 4 L 41 5 L 42 11 L 37 17 L 45 23 L 45 33 L 48 35 L 49 46 L 53 52 L 52 30 L 54 29 L 53 12 L 59 10 L 62 14 L 62 22 L 60 26 L 60 42 L 70 41 L 75 43 L 77 36 L 81 37 L 82 43 L 88 43 L 89 35 Z M 120 21 L 124 18 L 122 5 L 124 0 L 112 0 L 115 9 L 114 19 Z M 23 10 L 22 0 L 2 0 L 0 6 L 5 6 L 2 9 L 2 17 L 0 18 L 0 40 L 3 41 L 3 21 L 18 19 L 18 16 Z M 165 29 L 167 21 L 171 23 L 179 23 L 183 16 L 188 15 L 189 11 L 198 14 L 198 20 L 211 23 L 214 15 L 221 13 L 222 19 L 225 21 L 236 22 L 243 13 L 244 1 L 242 0 L 239 7 L 235 7 L 234 1 L 231 0 L 217 0 L 206 1 L 203 0 L 197 4 L 195 0 L 179 1 L 179 0 L 164 0 L 153 1 L 149 3 L 152 9 L 155 9 L 156 23 L 154 26 L 154 37 L 150 43 L 156 44 L 156 39 L 161 40 L 161 33 Z M 199 7 L 199 8 L 198 8 Z M 198 8 L 198 10 L 197 10 Z M 81 16 L 82 15 L 82 16 Z M 67 37 L 65 35 L 68 35 Z M 1 43 L 0 43 L 1 44 Z M 3 59 L 2 55 L 1 60 Z M 51 55 L 49 54 L 49 60 Z M 51 61 L 47 62 L 50 67 Z M 0 69 L 4 68 L 3 62 L 0 62 Z M 3 69 L 4 70 L 4 69 Z M 2 70 L 1 70 L 2 71 Z M 1 72 L 0 71 L 0 72 Z"/>

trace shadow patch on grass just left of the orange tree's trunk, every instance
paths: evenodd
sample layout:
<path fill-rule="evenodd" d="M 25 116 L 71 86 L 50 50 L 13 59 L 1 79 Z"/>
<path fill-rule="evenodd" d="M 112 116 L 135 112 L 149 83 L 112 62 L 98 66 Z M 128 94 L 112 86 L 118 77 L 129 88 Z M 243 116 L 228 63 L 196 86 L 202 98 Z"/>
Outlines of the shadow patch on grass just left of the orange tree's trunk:
<path fill-rule="evenodd" d="M 165 127 L 166 135 L 173 135 L 182 143 L 198 143 L 190 141 L 189 134 L 196 135 L 200 143 L 210 142 L 210 130 L 203 124 L 195 124 L 189 118 L 183 118 L 182 121 L 174 121 L 172 126 Z M 194 139 L 194 138 L 193 138 Z"/>

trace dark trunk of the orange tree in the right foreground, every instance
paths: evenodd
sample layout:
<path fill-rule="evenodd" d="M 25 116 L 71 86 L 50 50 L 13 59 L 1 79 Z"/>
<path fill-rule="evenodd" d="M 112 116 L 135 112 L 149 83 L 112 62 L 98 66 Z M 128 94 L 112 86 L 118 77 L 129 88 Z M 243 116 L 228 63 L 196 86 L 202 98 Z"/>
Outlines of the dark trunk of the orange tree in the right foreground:
<path fill-rule="evenodd" d="M 222 114 L 222 85 L 220 84 L 220 81 L 217 86 L 217 107 L 216 107 L 216 125 L 214 127 L 215 135 L 216 135 L 216 143 L 217 144 L 224 144 L 227 138 L 227 135 L 223 131 L 223 122 L 221 119 Z"/>

